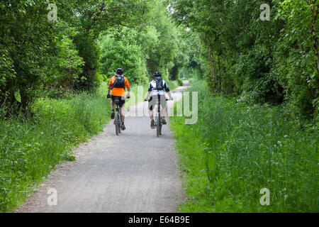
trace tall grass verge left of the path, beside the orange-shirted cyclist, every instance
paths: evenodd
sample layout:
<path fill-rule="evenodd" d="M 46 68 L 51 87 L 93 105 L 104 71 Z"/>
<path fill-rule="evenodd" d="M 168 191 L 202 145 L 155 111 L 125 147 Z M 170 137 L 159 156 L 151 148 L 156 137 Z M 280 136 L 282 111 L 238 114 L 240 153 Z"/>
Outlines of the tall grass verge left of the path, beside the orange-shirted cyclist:
<path fill-rule="evenodd" d="M 99 133 L 111 114 L 98 94 L 38 99 L 33 118 L 0 120 L 0 211 L 12 211 L 72 147 Z"/>

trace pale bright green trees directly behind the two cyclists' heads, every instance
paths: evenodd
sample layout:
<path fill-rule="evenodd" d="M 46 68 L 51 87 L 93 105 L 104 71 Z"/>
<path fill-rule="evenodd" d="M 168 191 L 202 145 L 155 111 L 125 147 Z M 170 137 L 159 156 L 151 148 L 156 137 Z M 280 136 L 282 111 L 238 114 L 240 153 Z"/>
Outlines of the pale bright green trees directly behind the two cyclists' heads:
<path fill-rule="evenodd" d="M 154 72 L 164 79 L 179 79 L 189 62 L 189 49 L 182 37 L 184 28 L 172 23 L 160 1 L 155 1 L 144 28 L 116 27 L 101 35 L 101 73 L 112 76 L 118 65 L 133 83 L 142 84 Z M 168 78 L 169 77 L 169 78 Z"/>

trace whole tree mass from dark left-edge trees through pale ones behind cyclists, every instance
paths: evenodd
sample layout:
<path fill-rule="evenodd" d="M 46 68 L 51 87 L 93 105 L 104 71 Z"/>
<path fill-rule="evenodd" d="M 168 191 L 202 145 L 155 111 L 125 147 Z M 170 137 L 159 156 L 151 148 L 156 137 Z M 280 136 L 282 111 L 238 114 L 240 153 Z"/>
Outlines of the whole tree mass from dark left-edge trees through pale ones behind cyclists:
<path fill-rule="evenodd" d="M 0 3 L 0 102 L 8 115 L 43 91 L 94 91 L 118 67 L 132 84 L 153 72 L 179 79 L 189 49 L 162 1 L 49 1 Z M 184 52 L 184 53 L 181 53 Z M 104 77 L 103 77 L 104 75 Z M 52 91 L 53 90 L 53 91 Z"/>

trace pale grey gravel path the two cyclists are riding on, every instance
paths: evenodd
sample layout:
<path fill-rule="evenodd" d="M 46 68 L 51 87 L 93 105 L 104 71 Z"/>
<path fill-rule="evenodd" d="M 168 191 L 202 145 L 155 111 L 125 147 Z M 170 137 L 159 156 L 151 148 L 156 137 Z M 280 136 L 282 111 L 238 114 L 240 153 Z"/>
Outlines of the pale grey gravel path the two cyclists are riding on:
<path fill-rule="evenodd" d="M 174 101 L 184 89 L 174 90 Z M 146 106 L 131 106 L 130 112 Z M 174 212 L 183 196 L 169 125 L 161 138 L 147 116 L 127 116 L 125 126 L 116 136 L 110 121 L 74 150 L 76 161 L 62 163 L 16 212 Z M 57 189 L 56 206 L 47 204 L 50 188 Z"/>

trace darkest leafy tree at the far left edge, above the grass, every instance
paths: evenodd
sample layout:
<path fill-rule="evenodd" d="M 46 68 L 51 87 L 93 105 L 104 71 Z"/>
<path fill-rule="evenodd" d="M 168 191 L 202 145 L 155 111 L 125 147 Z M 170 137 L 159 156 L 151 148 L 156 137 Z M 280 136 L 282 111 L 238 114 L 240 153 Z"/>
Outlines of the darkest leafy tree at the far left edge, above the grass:
<path fill-rule="evenodd" d="M 47 3 L 40 0 L 1 2 L 0 15 L 0 49 L 4 53 L 0 60 L 4 62 L 0 102 L 11 109 L 11 114 L 13 106 L 28 114 L 28 104 L 54 54 L 57 26 L 47 20 Z M 16 100 L 16 92 L 21 102 Z"/>

